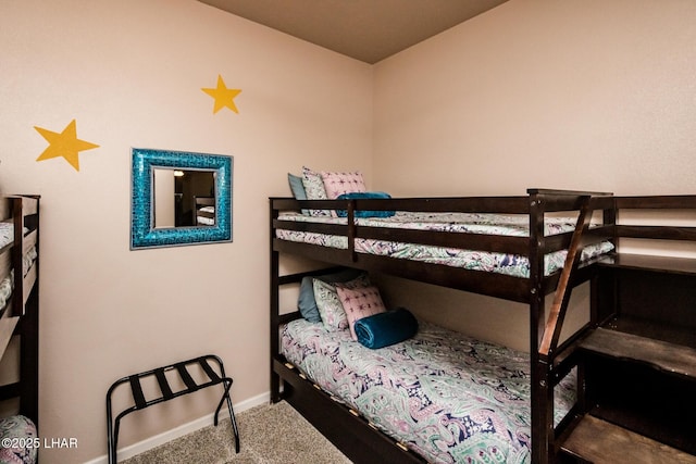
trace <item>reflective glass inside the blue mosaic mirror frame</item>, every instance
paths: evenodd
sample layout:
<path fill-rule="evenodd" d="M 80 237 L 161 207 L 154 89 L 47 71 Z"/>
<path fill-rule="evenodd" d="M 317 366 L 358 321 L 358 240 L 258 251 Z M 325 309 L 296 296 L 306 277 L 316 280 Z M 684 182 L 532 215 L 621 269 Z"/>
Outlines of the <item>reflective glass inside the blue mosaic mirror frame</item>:
<path fill-rule="evenodd" d="M 154 167 L 156 228 L 215 225 L 215 171 Z"/>

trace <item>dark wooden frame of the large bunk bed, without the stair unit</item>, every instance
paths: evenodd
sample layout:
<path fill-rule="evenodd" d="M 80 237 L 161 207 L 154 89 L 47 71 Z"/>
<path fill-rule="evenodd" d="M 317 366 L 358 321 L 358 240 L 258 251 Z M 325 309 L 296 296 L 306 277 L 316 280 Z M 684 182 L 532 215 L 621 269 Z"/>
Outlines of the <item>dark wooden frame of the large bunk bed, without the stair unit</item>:
<path fill-rule="evenodd" d="M 592 266 L 579 263 L 577 250 L 586 244 L 613 239 L 616 215 L 611 193 L 568 190 L 530 189 L 520 197 L 465 197 L 414 199 L 304 200 L 271 198 L 271 401 L 287 400 L 324 436 L 355 462 L 405 463 L 423 459 L 395 442 L 355 412 L 332 400 L 320 388 L 308 383 L 303 375 L 278 354 L 279 328 L 299 318 L 299 312 L 282 314 L 278 291 L 282 286 L 296 284 L 312 273 L 279 275 L 279 254 L 301 255 L 333 265 L 390 274 L 444 287 L 487 294 L 525 303 L 530 316 L 530 353 L 532 381 L 532 462 L 552 462 L 558 451 L 555 437 L 571 422 L 575 411 L 567 415 L 556 428 L 552 424 L 552 389 L 576 365 L 575 337 L 559 344 L 563 315 L 572 288 L 591 279 Z M 297 223 L 279 221 L 282 211 L 300 209 L 346 210 L 347 225 Z M 355 225 L 356 211 L 415 211 L 526 214 L 529 237 L 490 236 L 477 234 L 444 234 L 424 230 L 388 229 Z M 546 214 L 577 212 L 574 233 L 544 235 Z M 595 214 L 596 213 L 596 214 Z M 601 215 L 599 226 L 589 227 L 591 220 Z M 276 238 L 276 229 L 341 235 L 348 238 L 348 249 L 325 248 Z M 355 251 L 356 238 L 396 240 L 481 251 L 515 253 L 530 260 L 529 278 L 502 274 L 468 271 L 439 264 L 377 256 Z M 568 249 L 562 272 L 544 275 L 544 255 Z M 547 317 L 545 299 L 556 292 Z M 547 322 L 548 321 L 548 322 Z M 579 331 L 576 335 L 580 335 Z M 283 388 L 282 388 L 283 387 Z"/>

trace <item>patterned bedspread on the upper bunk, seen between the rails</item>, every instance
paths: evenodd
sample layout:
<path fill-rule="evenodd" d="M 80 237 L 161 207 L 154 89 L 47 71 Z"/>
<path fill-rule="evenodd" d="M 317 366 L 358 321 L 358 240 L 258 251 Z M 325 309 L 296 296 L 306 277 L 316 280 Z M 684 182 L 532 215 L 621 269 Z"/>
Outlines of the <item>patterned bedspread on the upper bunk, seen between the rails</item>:
<path fill-rule="evenodd" d="M 283 214 L 278 218 L 283 221 L 347 224 L 347 218 L 345 217 L 315 217 L 306 214 Z M 572 231 L 575 228 L 575 221 L 574 217 L 547 217 L 544 227 L 545 235 Z M 529 216 L 524 214 L 398 212 L 389 218 L 368 217 L 357 218 L 356 222 L 358 225 L 371 227 L 529 237 Z M 339 249 L 348 248 L 348 238 L 345 236 L 286 229 L 277 229 L 276 236 L 283 240 Z M 431 264 L 445 264 L 472 271 L 508 274 L 522 278 L 530 276 L 527 258 L 518 254 L 360 238 L 356 239 L 355 246 L 356 251 L 361 253 L 421 261 Z M 613 244 L 608 241 L 585 247 L 582 251 L 581 260 L 589 260 L 611 250 L 613 250 Z M 549 275 L 561 269 L 567 254 L 567 251 L 560 250 L 544 256 L 545 274 Z"/>

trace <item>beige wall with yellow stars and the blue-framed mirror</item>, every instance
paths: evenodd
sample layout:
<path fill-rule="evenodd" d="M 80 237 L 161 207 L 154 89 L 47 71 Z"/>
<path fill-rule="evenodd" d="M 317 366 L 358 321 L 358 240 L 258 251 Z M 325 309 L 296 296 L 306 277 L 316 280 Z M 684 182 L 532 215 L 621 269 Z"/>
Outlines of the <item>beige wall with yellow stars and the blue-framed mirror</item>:
<path fill-rule="evenodd" d="M 201 91 L 221 74 L 239 114 Z M 121 376 L 217 353 L 236 403 L 268 392 L 268 201 L 287 172 L 370 181 L 372 68 L 192 0 L 0 2 L 0 193 L 40 193 L 42 461 L 105 454 Z M 80 171 L 34 129 L 100 148 Z M 234 155 L 234 242 L 129 251 L 130 148 Z M 217 392 L 214 393 L 215 397 Z M 133 414 L 127 446 L 212 413 L 196 393 Z"/>

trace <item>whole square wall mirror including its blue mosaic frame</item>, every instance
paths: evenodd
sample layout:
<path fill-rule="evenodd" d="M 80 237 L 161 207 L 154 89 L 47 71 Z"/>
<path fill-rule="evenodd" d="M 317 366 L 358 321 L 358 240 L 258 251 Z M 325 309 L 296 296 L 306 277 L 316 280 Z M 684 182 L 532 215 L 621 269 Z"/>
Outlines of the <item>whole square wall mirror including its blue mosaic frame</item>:
<path fill-rule="evenodd" d="M 130 249 L 232 241 L 232 161 L 134 148 Z"/>

